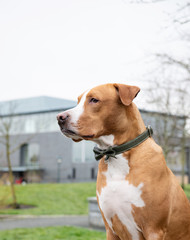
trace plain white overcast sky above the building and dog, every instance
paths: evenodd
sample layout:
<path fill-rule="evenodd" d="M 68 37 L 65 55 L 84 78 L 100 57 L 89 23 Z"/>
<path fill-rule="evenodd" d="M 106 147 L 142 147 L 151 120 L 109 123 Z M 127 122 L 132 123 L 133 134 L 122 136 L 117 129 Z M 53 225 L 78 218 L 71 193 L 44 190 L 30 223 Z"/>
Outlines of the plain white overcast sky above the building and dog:
<path fill-rule="evenodd" d="M 131 2 L 1 0 L 0 101 L 40 95 L 76 100 L 110 82 L 143 90 L 152 55 L 175 49 L 165 26 L 178 1 Z"/>

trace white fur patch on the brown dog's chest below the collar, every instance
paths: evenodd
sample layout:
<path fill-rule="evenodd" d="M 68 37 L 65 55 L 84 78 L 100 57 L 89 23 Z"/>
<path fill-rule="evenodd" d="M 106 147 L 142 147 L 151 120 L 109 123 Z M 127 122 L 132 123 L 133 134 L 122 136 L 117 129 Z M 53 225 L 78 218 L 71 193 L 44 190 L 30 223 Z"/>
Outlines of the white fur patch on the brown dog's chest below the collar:
<path fill-rule="evenodd" d="M 133 186 L 125 180 L 128 173 L 128 161 L 122 154 L 118 155 L 117 159 L 109 158 L 108 170 L 104 173 L 107 185 L 101 190 L 100 195 L 97 192 L 97 196 L 100 208 L 110 228 L 112 229 L 111 218 L 117 215 L 122 224 L 127 227 L 132 239 L 138 240 L 140 229 L 132 215 L 132 204 L 136 207 L 145 206 L 141 199 L 143 183 L 137 187 Z"/>

